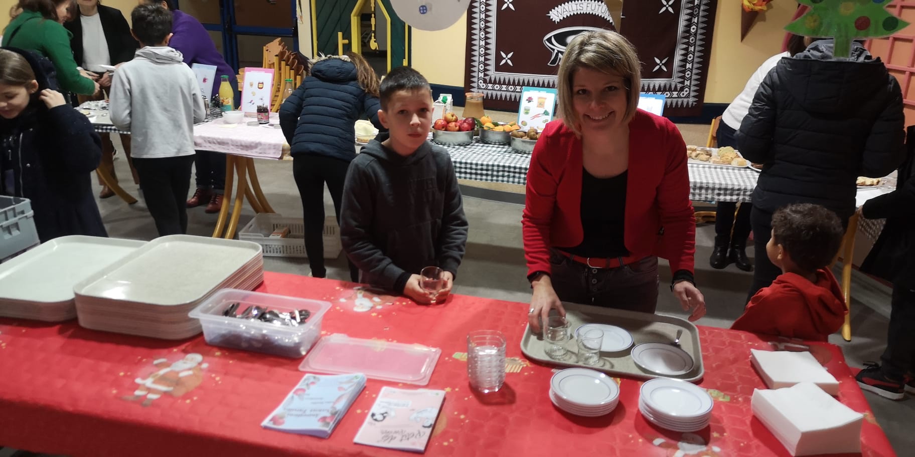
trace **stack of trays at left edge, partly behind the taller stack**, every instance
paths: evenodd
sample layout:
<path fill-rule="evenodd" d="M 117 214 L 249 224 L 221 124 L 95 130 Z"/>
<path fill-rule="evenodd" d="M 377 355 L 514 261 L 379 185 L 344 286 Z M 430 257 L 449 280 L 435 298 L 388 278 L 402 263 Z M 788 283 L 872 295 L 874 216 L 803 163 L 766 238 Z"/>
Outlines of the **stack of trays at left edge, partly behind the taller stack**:
<path fill-rule="evenodd" d="M 28 250 L 0 264 L 0 316 L 47 322 L 75 319 L 73 285 L 145 244 L 73 235 Z"/>

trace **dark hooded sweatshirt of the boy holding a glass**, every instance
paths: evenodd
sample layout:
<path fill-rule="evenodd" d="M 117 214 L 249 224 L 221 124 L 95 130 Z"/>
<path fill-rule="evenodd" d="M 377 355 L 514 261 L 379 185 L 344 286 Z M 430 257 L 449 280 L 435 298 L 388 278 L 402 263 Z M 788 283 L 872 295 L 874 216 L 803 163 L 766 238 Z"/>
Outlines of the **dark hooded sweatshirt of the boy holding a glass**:
<path fill-rule="evenodd" d="M 339 220 L 361 282 L 402 293 L 424 267 L 457 277 L 468 223 L 442 147 L 425 142 L 404 157 L 372 140 L 350 164 Z"/>

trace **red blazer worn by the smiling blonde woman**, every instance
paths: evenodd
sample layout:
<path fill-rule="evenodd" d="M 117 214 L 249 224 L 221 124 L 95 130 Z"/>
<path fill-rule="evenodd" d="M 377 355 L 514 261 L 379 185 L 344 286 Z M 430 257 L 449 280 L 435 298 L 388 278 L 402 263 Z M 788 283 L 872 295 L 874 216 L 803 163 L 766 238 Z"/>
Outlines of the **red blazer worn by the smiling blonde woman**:
<path fill-rule="evenodd" d="M 585 238 L 582 166 L 582 145 L 576 134 L 561 120 L 546 124 L 533 147 L 522 214 L 529 275 L 552 272 L 550 247 L 577 246 Z M 656 255 L 670 260 L 671 271 L 693 272 L 695 221 L 686 145 L 673 122 L 641 110 L 630 121 L 623 233 L 630 255 Z"/>

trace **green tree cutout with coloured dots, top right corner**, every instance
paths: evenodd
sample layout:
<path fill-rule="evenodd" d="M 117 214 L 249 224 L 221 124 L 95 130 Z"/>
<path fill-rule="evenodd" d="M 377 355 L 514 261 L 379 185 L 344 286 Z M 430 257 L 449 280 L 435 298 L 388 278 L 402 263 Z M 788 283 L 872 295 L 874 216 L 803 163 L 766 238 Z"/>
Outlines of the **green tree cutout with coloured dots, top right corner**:
<path fill-rule="evenodd" d="M 887 37 L 909 25 L 887 11 L 892 0 L 796 0 L 810 10 L 785 30 L 803 37 L 833 37 L 835 57 L 848 57 L 856 38 Z"/>

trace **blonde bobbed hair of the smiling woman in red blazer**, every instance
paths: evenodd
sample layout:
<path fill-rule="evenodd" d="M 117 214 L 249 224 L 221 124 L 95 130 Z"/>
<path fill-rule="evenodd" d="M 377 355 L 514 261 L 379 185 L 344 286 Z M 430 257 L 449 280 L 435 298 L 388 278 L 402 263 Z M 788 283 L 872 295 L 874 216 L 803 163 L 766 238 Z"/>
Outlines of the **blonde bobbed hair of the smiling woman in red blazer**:
<path fill-rule="evenodd" d="M 619 73 L 626 86 L 627 105 L 623 122 L 630 122 L 639 106 L 641 64 L 629 40 L 617 32 L 608 30 L 587 31 L 575 37 L 565 48 L 556 80 L 559 91 L 559 117 L 563 119 L 566 127 L 578 134 L 581 134 L 578 131 L 581 120 L 575 111 L 572 98 L 575 96 L 573 79 L 576 71 L 581 68 L 603 73 Z"/>

